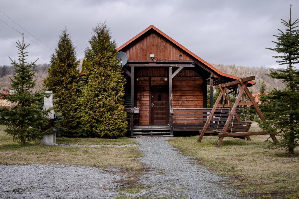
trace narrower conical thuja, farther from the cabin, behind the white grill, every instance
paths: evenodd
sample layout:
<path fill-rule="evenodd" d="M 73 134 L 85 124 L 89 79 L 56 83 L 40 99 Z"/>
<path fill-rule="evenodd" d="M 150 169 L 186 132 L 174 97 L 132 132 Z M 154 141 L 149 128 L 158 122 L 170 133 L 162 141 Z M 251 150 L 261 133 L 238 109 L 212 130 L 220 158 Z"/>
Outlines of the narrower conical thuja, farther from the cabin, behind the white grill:
<path fill-rule="evenodd" d="M 79 62 L 75 47 L 65 28 L 59 37 L 57 48 L 51 55 L 51 66 L 44 85 L 53 91 L 55 109 L 63 119 L 58 123 L 63 136 L 76 136 L 79 116 Z"/>

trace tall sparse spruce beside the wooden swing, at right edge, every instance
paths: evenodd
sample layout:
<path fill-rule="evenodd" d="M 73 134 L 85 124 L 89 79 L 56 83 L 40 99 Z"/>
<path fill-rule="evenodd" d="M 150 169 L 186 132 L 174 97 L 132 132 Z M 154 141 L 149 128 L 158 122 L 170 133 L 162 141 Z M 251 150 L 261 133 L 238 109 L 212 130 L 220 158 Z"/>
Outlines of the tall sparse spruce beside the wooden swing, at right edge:
<path fill-rule="evenodd" d="M 289 156 L 294 156 L 294 148 L 299 145 L 299 72 L 294 66 L 299 63 L 298 19 L 292 21 L 290 9 L 290 19 L 281 20 L 281 23 L 286 27 L 285 31 L 278 29 L 279 34 L 274 35 L 276 41 L 273 41 L 275 48 L 268 49 L 276 51 L 279 54 L 274 56 L 279 58 L 277 62 L 287 68 L 278 72 L 271 71 L 269 76 L 282 79 L 286 88 L 270 92 L 270 101 L 264 112 L 267 121 L 259 121 L 259 125 L 267 132 L 276 131 L 280 138 L 278 143 L 271 142 L 270 148 L 284 149 Z"/>

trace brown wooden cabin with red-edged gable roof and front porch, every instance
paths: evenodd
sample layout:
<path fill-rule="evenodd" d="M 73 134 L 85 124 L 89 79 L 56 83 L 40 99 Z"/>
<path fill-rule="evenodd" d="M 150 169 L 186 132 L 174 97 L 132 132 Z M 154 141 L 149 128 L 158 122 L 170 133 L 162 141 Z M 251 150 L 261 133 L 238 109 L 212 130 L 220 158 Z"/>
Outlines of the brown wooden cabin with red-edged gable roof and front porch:
<path fill-rule="evenodd" d="M 213 85 L 239 79 L 220 72 L 153 25 L 117 50 L 128 57 L 123 70 L 131 136 L 201 130 L 211 110 L 207 85 L 213 99 Z"/>

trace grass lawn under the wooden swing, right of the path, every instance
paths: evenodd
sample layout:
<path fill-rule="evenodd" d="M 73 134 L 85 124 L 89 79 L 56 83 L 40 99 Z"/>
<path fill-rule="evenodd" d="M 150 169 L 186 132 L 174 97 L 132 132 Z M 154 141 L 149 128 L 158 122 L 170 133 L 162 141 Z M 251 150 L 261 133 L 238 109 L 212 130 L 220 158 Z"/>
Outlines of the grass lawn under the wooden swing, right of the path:
<path fill-rule="evenodd" d="M 251 131 L 258 130 L 256 123 Z M 218 136 L 175 137 L 169 143 L 184 154 L 198 158 L 201 165 L 228 176 L 230 186 L 244 196 L 257 198 L 299 198 L 299 149 L 295 157 L 286 152 L 265 149 L 268 135 L 251 136 L 252 141 L 225 137 L 215 148 Z"/>

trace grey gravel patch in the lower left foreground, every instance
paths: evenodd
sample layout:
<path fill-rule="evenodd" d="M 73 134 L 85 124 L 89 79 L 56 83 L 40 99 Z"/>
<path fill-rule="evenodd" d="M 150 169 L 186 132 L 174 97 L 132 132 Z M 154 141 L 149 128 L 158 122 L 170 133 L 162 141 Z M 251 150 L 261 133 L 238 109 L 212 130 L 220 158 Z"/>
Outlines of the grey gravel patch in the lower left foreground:
<path fill-rule="evenodd" d="M 0 198 L 116 198 L 121 177 L 73 165 L 0 165 Z"/>

